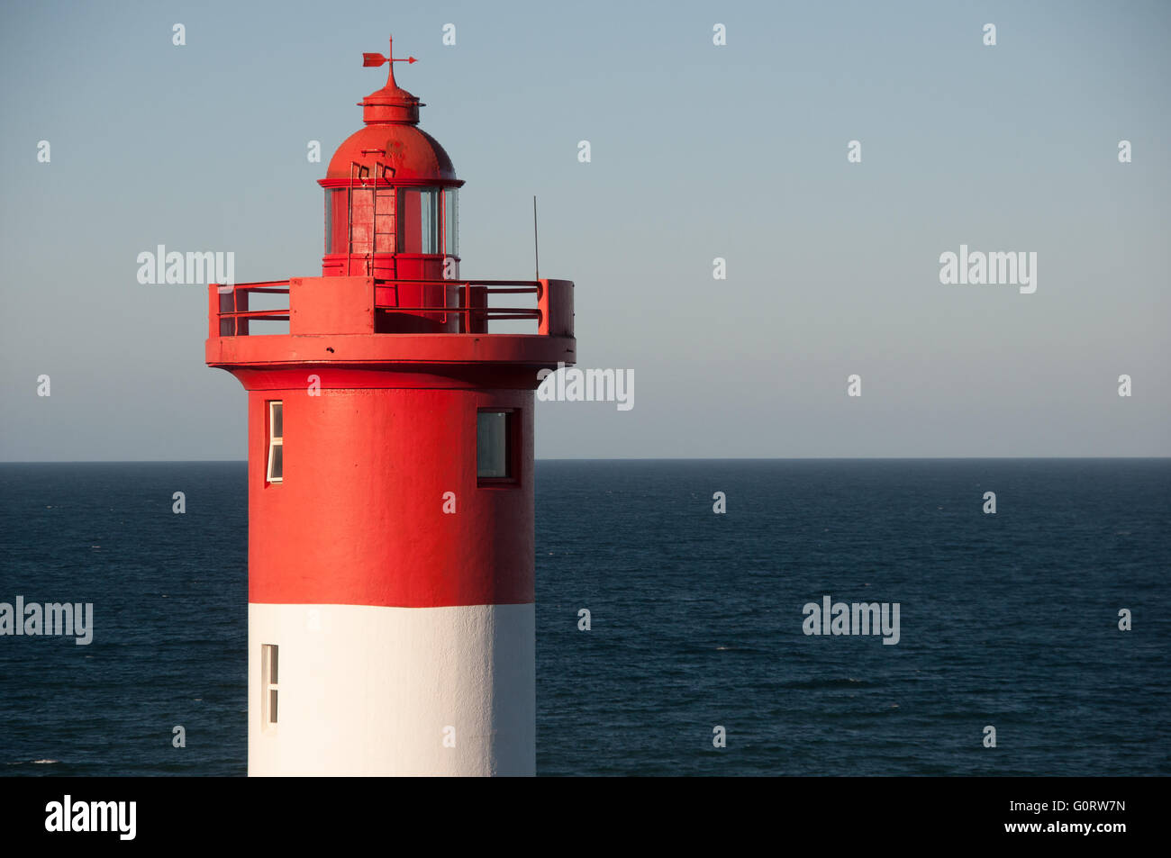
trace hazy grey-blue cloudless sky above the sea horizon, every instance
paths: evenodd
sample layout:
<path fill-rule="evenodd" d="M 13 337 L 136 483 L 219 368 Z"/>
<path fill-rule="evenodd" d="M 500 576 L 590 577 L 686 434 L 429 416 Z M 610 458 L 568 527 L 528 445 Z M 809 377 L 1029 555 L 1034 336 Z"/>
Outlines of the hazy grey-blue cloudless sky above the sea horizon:
<path fill-rule="evenodd" d="M 391 32 L 464 276 L 532 276 L 537 194 L 580 365 L 634 370 L 540 404 L 539 457 L 1171 454 L 1171 4 L 46 2 L 0 12 L 0 460 L 245 457 L 205 288 L 136 258 L 320 275 Z M 941 284 L 961 243 L 1036 291 Z"/>

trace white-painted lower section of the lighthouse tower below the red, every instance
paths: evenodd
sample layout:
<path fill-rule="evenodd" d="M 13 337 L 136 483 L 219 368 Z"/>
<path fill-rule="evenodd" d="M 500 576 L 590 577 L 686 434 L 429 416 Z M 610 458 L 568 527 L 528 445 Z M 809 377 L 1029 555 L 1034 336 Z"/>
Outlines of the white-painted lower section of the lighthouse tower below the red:
<path fill-rule="evenodd" d="M 533 775 L 534 637 L 532 604 L 249 604 L 248 775 Z"/>

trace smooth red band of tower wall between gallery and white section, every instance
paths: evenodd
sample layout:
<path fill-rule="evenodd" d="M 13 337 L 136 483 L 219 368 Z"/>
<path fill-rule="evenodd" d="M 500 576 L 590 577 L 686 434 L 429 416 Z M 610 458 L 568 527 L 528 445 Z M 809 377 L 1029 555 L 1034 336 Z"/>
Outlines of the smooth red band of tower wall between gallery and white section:
<path fill-rule="evenodd" d="M 317 393 L 248 394 L 249 602 L 534 600 L 532 391 Z M 273 399 L 283 412 L 280 483 L 266 480 Z M 477 478 L 480 409 L 513 410 L 515 483 Z"/>

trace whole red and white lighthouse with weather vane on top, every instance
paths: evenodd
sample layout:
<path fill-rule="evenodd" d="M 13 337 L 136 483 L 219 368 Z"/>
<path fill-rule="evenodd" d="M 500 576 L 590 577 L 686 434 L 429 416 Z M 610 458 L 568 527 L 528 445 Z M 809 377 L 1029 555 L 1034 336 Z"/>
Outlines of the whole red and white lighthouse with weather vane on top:
<path fill-rule="evenodd" d="M 460 276 L 413 61 L 364 55 L 390 73 L 319 181 L 321 276 L 208 287 L 248 398 L 253 776 L 534 774 L 534 390 L 573 283 Z"/>

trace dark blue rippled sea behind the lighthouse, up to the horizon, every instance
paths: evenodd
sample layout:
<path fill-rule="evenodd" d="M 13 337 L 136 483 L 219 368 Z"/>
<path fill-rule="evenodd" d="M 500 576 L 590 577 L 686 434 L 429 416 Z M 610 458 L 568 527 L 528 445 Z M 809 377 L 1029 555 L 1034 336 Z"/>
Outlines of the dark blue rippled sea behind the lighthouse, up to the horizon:
<path fill-rule="evenodd" d="M 0 637 L 0 774 L 246 774 L 245 467 L 0 465 L 0 602 L 95 625 Z M 1171 774 L 1169 528 L 1171 460 L 539 462 L 537 774 Z"/>

